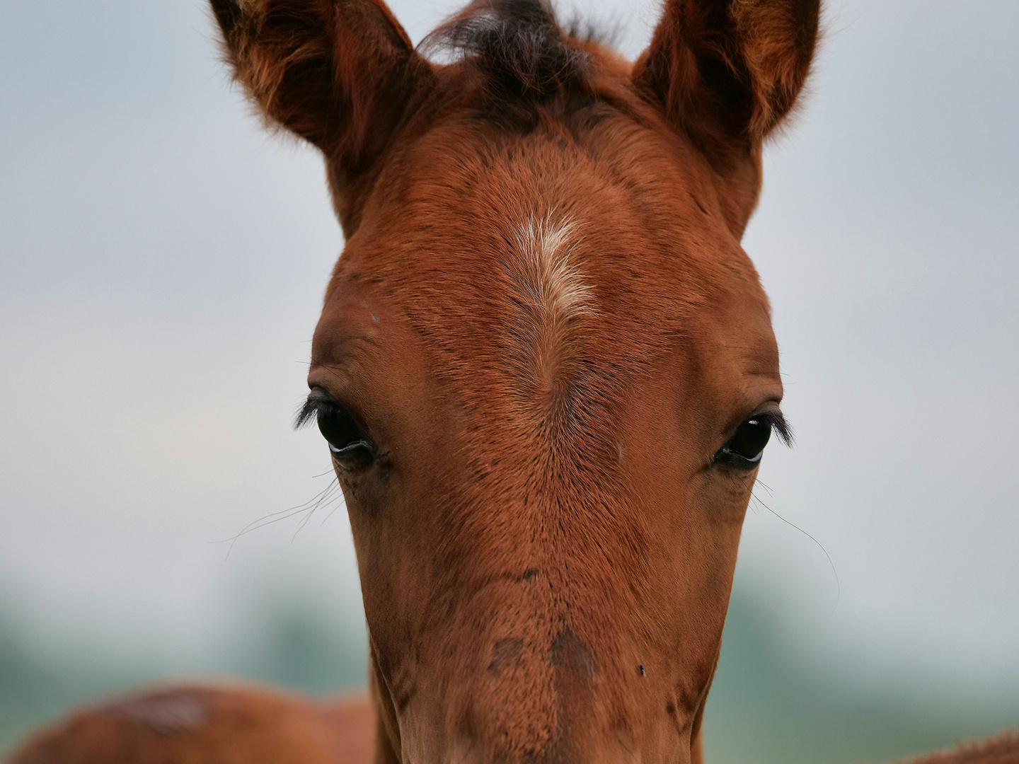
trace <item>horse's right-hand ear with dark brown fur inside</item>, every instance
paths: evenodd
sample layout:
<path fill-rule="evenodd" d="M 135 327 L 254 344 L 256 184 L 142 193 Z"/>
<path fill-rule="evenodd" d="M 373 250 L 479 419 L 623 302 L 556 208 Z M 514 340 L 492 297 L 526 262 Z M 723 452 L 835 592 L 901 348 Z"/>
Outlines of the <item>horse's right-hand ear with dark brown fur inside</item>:
<path fill-rule="evenodd" d="M 666 0 L 635 85 L 731 171 L 795 105 L 819 13 L 820 0 Z"/>

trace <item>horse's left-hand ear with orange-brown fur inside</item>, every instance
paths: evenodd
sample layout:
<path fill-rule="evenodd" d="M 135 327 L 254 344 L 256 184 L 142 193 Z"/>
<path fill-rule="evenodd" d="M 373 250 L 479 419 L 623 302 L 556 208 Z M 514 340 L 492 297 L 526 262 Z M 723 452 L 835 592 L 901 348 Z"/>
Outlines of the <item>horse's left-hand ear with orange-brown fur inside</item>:
<path fill-rule="evenodd" d="M 391 143 L 429 64 L 382 0 L 211 3 L 234 78 L 270 123 L 326 155 L 344 218 L 345 186 Z"/>

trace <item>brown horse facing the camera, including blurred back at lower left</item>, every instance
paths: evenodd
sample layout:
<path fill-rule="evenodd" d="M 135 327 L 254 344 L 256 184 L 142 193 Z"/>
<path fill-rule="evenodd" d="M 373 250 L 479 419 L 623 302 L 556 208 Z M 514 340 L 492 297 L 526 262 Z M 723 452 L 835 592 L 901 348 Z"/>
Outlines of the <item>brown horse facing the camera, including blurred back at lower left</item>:
<path fill-rule="evenodd" d="M 479 0 L 438 65 L 381 0 L 212 0 L 346 235 L 299 421 L 346 500 L 370 706 L 181 690 L 15 761 L 342 762 L 369 730 L 377 764 L 701 761 L 744 512 L 789 438 L 740 238 L 818 2 L 668 0 L 630 64 L 543 0 Z"/>

